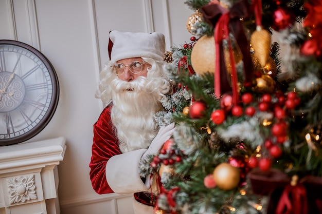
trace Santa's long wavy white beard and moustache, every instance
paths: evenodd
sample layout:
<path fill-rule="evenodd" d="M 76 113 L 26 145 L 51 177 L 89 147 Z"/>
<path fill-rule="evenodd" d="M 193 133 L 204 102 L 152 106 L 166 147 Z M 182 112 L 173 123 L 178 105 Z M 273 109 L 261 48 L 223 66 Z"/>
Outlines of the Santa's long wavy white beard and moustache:
<path fill-rule="evenodd" d="M 158 83 L 158 81 L 155 82 Z M 148 148 L 157 134 L 158 125 L 154 120 L 154 114 L 163 110 L 163 107 L 159 102 L 160 90 L 157 89 L 160 86 L 151 83 L 153 81 L 143 76 L 131 82 L 119 79 L 111 82 L 113 91 L 111 120 L 116 128 L 119 147 L 123 153 Z M 153 89 L 149 88 L 151 86 Z M 156 90 L 159 91 L 156 92 Z"/>

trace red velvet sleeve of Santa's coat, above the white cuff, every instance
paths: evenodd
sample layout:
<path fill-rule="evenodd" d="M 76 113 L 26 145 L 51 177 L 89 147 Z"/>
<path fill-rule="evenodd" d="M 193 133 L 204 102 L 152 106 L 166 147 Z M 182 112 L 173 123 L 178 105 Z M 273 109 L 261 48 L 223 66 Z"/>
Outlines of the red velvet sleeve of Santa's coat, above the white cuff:
<path fill-rule="evenodd" d="M 106 181 L 105 167 L 111 157 L 121 153 L 111 122 L 111 107 L 106 107 L 94 124 L 90 179 L 99 194 L 114 192 Z"/>

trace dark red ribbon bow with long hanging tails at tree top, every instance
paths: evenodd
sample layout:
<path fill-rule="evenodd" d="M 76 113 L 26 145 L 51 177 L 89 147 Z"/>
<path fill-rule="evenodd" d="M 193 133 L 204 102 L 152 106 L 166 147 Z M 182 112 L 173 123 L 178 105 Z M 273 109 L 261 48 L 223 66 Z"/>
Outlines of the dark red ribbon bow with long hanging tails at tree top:
<path fill-rule="evenodd" d="M 222 93 L 232 91 L 234 104 L 239 103 L 239 94 L 237 86 L 237 73 L 235 66 L 234 54 L 230 41 L 228 39 L 231 32 L 238 44 L 238 47 L 243 55 L 245 82 L 252 82 L 253 64 L 251 53 L 249 50 L 249 42 L 243 30 L 241 18 L 249 16 L 249 5 L 247 0 L 241 0 L 234 4 L 230 10 L 222 7 L 220 4 L 209 4 L 201 8 L 204 20 L 210 24 L 214 30 L 214 38 L 216 43 L 216 66 L 214 71 L 214 89 L 217 98 L 220 98 Z M 231 87 L 227 78 L 227 70 L 224 61 L 224 51 L 222 41 L 228 40 L 228 48 L 231 63 Z"/>

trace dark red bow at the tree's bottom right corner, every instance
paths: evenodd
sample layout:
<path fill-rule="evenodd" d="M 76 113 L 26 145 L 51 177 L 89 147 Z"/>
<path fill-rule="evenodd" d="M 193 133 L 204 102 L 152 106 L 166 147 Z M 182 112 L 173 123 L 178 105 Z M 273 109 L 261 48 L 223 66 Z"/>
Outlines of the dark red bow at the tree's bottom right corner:
<path fill-rule="evenodd" d="M 267 214 L 322 213 L 322 177 L 306 176 L 292 186 L 287 174 L 275 169 L 252 170 L 247 176 L 254 193 L 270 195 Z"/>

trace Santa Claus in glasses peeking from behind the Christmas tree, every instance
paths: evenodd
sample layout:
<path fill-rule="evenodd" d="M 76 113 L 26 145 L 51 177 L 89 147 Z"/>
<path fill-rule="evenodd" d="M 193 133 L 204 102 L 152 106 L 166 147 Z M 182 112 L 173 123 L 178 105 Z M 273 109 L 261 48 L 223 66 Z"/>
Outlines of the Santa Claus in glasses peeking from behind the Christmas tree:
<path fill-rule="evenodd" d="M 151 179 L 141 178 L 138 168 L 174 130 L 154 120 L 172 92 L 163 71 L 164 35 L 111 31 L 108 50 L 96 93 L 106 107 L 94 124 L 90 178 L 97 193 L 134 193 L 134 213 L 152 214 Z"/>

